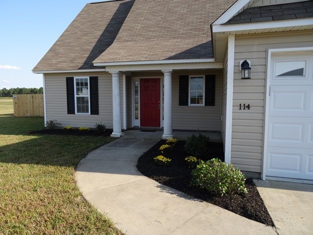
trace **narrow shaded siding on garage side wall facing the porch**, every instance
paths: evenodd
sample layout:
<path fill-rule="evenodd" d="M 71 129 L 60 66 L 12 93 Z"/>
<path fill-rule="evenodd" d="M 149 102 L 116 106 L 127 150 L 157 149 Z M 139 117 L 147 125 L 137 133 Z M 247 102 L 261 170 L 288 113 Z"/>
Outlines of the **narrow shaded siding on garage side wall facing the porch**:
<path fill-rule="evenodd" d="M 222 78 L 222 91 L 221 91 L 221 134 L 222 140 L 224 143 L 224 152 L 225 152 L 225 140 L 226 140 L 226 105 L 227 105 L 227 60 L 228 60 L 228 50 L 226 49 L 226 53 L 224 56 L 224 65 L 223 65 L 223 78 Z"/>

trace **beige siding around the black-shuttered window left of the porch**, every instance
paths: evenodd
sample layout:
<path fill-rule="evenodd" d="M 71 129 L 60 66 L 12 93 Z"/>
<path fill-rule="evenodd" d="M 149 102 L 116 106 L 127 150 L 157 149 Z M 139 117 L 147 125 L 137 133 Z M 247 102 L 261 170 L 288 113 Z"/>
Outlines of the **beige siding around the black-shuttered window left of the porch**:
<path fill-rule="evenodd" d="M 66 77 L 98 76 L 99 115 L 67 114 Z M 120 76 L 121 118 L 123 122 L 123 79 Z M 112 128 L 112 75 L 107 72 L 45 74 L 46 119 L 56 119 L 62 126 L 89 127 L 102 121 Z"/>

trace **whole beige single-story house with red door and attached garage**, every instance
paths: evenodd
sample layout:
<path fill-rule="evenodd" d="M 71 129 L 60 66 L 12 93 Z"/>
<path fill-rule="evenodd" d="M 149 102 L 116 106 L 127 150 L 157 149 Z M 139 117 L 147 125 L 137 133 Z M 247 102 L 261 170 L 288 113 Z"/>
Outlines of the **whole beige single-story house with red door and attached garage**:
<path fill-rule="evenodd" d="M 219 131 L 225 161 L 313 180 L 313 0 L 90 3 L 33 69 L 45 120 Z"/>

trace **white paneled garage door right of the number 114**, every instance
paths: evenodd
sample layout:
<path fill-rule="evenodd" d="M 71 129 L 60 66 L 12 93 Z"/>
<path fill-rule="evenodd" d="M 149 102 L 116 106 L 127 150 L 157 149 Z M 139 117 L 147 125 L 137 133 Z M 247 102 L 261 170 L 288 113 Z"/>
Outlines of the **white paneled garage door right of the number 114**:
<path fill-rule="evenodd" d="M 313 52 L 273 56 L 267 176 L 313 180 Z"/>

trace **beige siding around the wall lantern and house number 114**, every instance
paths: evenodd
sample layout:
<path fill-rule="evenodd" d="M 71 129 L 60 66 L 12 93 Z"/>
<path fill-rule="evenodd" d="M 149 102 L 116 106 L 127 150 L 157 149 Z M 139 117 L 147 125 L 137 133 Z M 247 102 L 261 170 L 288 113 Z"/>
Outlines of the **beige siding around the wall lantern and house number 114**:
<path fill-rule="evenodd" d="M 261 172 L 267 49 L 312 47 L 313 31 L 236 36 L 231 162 L 242 170 Z M 241 79 L 239 63 L 251 61 L 251 79 Z M 239 110 L 239 104 L 250 110 Z"/>

